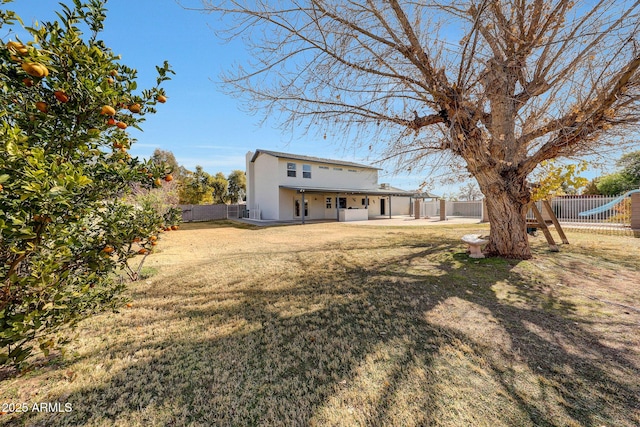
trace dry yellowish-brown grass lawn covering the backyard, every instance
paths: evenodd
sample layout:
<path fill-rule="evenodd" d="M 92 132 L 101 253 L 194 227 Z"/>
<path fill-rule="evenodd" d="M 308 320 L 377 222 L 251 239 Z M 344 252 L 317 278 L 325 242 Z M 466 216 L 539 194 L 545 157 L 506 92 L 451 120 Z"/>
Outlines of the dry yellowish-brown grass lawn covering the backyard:
<path fill-rule="evenodd" d="M 0 425 L 637 426 L 640 239 L 469 259 L 484 225 L 185 224 Z"/>

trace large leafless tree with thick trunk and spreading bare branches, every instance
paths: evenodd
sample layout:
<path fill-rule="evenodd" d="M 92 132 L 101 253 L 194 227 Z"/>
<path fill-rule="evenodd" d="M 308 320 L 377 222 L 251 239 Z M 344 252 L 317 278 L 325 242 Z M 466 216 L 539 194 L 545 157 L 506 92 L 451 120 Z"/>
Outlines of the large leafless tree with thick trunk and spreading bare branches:
<path fill-rule="evenodd" d="M 526 259 L 527 176 L 619 148 L 638 123 L 640 2 L 204 1 L 254 61 L 224 76 L 287 126 L 385 144 L 413 170 L 445 152 L 486 197 L 486 251 Z M 360 133 L 356 133 L 356 131 Z M 457 168 L 452 168 L 457 169 Z"/>

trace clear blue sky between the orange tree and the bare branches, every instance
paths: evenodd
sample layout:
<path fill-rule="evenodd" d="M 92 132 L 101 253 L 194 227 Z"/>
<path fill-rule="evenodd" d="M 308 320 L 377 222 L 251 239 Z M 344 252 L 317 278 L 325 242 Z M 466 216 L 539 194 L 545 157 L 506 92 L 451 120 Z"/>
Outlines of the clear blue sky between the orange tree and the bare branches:
<path fill-rule="evenodd" d="M 200 5 L 198 0 L 183 3 Z M 54 20 L 55 11 L 60 10 L 59 0 L 14 0 L 6 8 L 27 26 Z M 155 84 L 155 66 L 164 60 L 176 72 L 163 86 L 168 102 L 159 105 L 157 114 L 146 116 L 144 132 L 131 130 L 138 140 L 131 149 L 133 156 L 149 157 L 161 148 L 172 151 L 188 169 L 201 165 L 211 174 L 225 175 L 233 169 L 244 170 L 245 154 L 257 148 L 361 163 L 376 160 L 332 142 L 329 135 L 326 140 L 315 133 L 292 138 L 277 129 L 278 123 L 260 126 L 261 117 L 242 111 L 238 100 L 221 91 L 218 76 L 242 62 L 246 53 L 240 41 L 224 43 L 216 37 L 214 30 L 221 25 L 217 15 L 185 10 L 174 0 L 109 0 L 107 9 L 101 39 L 122 55 L 123 64 L 138 70 L 139 88 Z M 7 39 L 6 31 L 1 37 Z M 421 175 L 392 172 L 381 171 L 380 182 L 412 190 L 423 180 Z"/>

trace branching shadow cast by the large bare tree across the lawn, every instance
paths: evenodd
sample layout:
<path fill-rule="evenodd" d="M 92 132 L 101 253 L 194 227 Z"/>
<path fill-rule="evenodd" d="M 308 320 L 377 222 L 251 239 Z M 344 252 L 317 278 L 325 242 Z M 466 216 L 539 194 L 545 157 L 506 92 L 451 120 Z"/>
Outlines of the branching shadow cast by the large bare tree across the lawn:
<path fill-rule="evenodd" d="M 519 263 L 459 250 L 415 245 L 369 266 L 308 261 L 281 287 L 265 275 L 197 296 L 176 289 L 184 304 L 146 327 L 168 316 L 184 334 L 109 347 L 137 360 L 68 396 L 72 413 L 26 422 L 640 423 L 637 354 L 605 344 L 591 319 Z M 203 297 L 233 303 L 189 301 Z"/>

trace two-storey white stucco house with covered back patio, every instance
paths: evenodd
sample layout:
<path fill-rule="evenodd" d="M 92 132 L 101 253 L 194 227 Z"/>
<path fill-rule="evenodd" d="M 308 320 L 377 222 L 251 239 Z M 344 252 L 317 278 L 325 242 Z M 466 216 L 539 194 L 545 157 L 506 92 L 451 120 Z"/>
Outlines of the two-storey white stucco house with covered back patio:
<path fill-rule="evenodd" d="M 411 213 L 414 193 L 379 184 L 376 167 L 269 150 L 248 152 L 246 162 L 252 219 L 355 221 Z"/>

